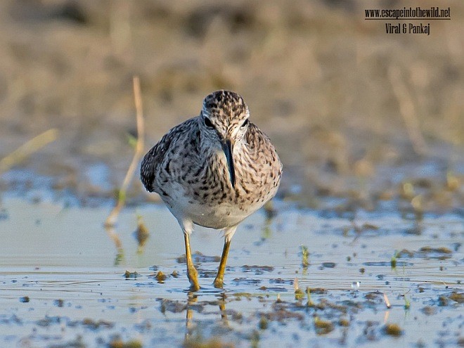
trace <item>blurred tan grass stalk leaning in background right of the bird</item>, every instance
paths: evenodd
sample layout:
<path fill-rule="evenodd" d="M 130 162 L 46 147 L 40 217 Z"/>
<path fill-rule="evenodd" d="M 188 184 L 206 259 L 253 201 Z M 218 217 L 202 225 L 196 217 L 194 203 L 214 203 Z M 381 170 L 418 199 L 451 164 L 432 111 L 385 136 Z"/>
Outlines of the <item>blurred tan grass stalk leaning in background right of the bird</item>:
<path fill-rule="evenodd" d="M 398 67 L 390 67 L 388 70 L 388 77 L 392 84 L 393 93 L 397 97 L 399 103 L 399 111 L 403 116 L 404 123 L 406 124 L 406 131 L 413 144 L 415 153 L 418 155 L 425 155 L 427 152 L 427 144 L 424 137 L 420 132 L 420 124 L 417 112 L 415 111 L 413 97 L 408 91 L 406 84 L 401 79 L 401 71 Z"/>

